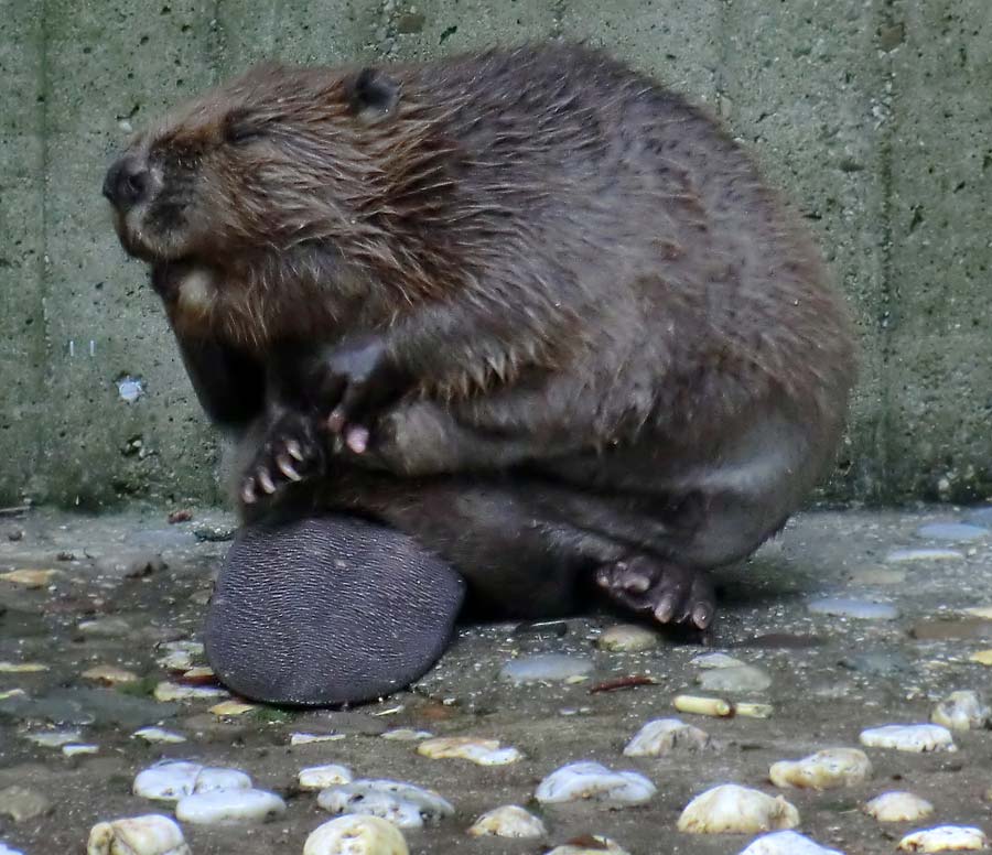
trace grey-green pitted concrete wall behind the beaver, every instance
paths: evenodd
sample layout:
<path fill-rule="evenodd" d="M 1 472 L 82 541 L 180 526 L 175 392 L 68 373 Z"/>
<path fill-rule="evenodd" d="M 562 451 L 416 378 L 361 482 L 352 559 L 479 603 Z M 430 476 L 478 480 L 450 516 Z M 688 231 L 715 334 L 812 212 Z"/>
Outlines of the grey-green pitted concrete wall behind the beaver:
<path fill-rule="evenodd" d="M 829 494 L 992 495 L 988 0 L 0 0 L 0 500 L 217 497 L 215 439 L 99 195 L 131 127 L 265 56 L 557 35 L 709 104 L 818 232 L 863 344 Z"/>

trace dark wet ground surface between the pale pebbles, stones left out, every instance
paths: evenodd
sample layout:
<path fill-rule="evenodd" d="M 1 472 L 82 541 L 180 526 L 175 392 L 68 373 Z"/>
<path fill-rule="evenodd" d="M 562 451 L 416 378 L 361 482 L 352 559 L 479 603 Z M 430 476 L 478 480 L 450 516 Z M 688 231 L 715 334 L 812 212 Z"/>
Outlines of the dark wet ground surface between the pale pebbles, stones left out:
<path fill-rule="evenodd" d="M 977 527 L 921 528 L 969 520 Z M 455 815 L 405 832 L 412 853 L 431 855 L 537 854 L 589 834 L 608 836 L 633 855 L 736 855 L 754 835 L 676 831 L 693 796 L 725 782 L 783 793 L 799 811 L 798 831 L 848 855 L 892 853 L 914 827 L 955 823 L 990 832 L 989 729 L 956 732 L 953 753 L 866 748 L 873 772 L 852 787 L 783 791 L 768 781 L 778 760 L 858 747 L 867 727 L 927 722 L 951 691 L 975 690 L 989 700 L 992 667 L 971 657 L 992 648 L 992 612 L 974 612 L 992 608 L 990 529 L 988 510 L 808 513 L 746 566 L 722 576 L 721 619 L 704 646 L 661 638 L 647 652 L 601 650 L 597 637 L 618 623 L 605 614 L 546 626 L 472 627 L 419 685 L 381 703 L 344 712 L 218 715 L 208 711 L 222 699 L 164 703 L 154 691 L 163 681 L 209 685 L 202 672 L 182 675 L 191 663 L 182 661 L 182 646 L 169 642 L 197 638 L 212 574 L 228 545 L 229 518 L 196 509 L 175 523 L 152 510 L 100 518 L 6 512 L 0 842 L 25 855 L 76 853 L 98 821 L 170 814 L 171 805 L 131 792 L 136 773 L 162 758 L 242 769 L 288 804 L 263 824 L 183 823 L 194 855 L 301 853 L 306 835 L 330 815 L 315 793 L 298 789 L 296 773 L 328 762 L 356 777 L 428 787 L 451 801 Z M 15 570 L 52 572 L 3 575 Z M 827 603 L 816 603 L 824 597 Z M 830 614 L 838 612 L 845 614 Z M 204 664 L 193 650 L 192 665 Z M 161 664 L 170 651 L 180 656 L 171 667 Z M 714 651 L 762 673 L 732 690 L 703 691 L 696 681 L 704 669 L 692 660 Z M 509 660 L 526 664 L 539 653 L 571 657 L 562 675 L 582 671 L 583 660 L 593 670 L 522 685 L 500 679 Z M 111 667 L 133 679 L 106 670 Z M 767 682 L 762 675 L 770 678 L 768 688 L 759 688 Z M 634 685 L 617 688 L 617 681 Z M 773 712 L 768 718 L 676 713 L 672 700 L 684 693 L 767 703 Z M 718 746 L 660 758 L 623 756 L 641 725 L 672 715 L 703 728 Z M 148 744 L 133 736 L 155 725 L 186 742 Z M 400 727 L 497 738 L 522 759 L 496 767 L 429 759 L 414 742 L 382 738 Z M 66 737 L 69 744 L 94 753 L 71 748 L 67 756 L 64 746 L 33 740 L 64 730 L 77 730 Z M 343 738 L 292 745 L 294 733 Z M 639 771 L 657 793 L 639 807 L 535 802 L 541 779 L 576 760 Z M 11 786 L 21 789 L 6 789 Z M 929 800 L 934 815 L 883 825 L 861 811 L 867 799 L 893 789 Z M 503 804 L 541 816 L 547 837 L 466 834 L 481 813 Z"/>

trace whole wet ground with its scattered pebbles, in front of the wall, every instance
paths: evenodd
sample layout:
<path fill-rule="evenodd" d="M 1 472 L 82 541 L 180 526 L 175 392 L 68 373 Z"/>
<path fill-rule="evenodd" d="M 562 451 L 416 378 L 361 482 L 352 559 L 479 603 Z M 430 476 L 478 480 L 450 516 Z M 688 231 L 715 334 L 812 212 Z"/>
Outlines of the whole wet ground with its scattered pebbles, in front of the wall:
<path fill-rule="evenodd" d="M 616 614 L 463 628 L 348 711 L 217 683 L 226 542 L 45 513 L 0 538 L 0 855 L 90 829 L 91 855 L 989 849 L 992 508 L 800 517 L 721 574 L 704 643 Z"/>

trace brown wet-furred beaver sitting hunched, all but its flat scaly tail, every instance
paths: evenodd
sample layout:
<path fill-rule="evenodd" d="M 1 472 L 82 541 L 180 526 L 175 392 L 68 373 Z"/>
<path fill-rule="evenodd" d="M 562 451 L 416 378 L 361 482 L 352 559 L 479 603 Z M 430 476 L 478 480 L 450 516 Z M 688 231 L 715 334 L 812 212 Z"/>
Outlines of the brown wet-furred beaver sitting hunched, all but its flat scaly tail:
<path fill-rule="evenodd" d="M 181 344 L 225 354 L 207 409 L 261 415 L 246 508 L 379 520 L 507 613 L 592 581 L 709 626 L 708 571 L 843 429 L 851 327 L 801 219 L 602 52 L 267 64 L 140 133 L 105 193 Z"/>

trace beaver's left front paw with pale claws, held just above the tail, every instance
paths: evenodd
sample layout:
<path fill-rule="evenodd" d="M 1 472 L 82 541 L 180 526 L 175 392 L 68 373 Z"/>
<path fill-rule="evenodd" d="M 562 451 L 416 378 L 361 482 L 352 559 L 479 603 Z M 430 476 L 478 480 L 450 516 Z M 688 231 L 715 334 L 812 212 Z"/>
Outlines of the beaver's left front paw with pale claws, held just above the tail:
<path fill-rule="evenodd" d="M 324 440 L 316 419 L 284 413 L 268 430 L 266 440 L 248 467 L 240 498 L 255 505 L 281 488 L 320 474 L 324 468 Z"/>

